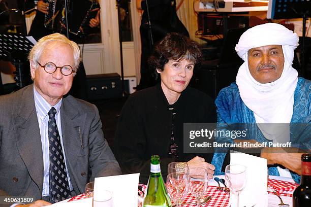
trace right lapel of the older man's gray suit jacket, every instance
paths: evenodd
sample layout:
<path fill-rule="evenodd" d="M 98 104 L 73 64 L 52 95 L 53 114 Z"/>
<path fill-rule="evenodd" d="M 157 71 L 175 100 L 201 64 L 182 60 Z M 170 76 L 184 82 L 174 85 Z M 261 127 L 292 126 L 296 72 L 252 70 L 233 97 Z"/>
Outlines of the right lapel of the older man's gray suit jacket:
<path fill-rule="evenodd" d="M 63 134 L 66 165 L 68 167 L 71 183 L 76 193 L 79 193 L 77 184 L 77 160 L 79 156 L 85 156 L 83 148 L 87 146 L 86 138 L 83 138 L 86 113 L 80 114 L 70 102 L 70 97 L 64 97 L 61 104 L 61 133 Z M 82 193 L 82 192 L 80 192 Z"/>

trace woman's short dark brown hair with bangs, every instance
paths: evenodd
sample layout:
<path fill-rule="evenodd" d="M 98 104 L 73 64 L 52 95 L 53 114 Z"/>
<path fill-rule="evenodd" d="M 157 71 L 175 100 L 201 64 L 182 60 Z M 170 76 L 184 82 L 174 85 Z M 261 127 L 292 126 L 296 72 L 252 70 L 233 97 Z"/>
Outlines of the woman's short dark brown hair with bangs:
<path fill-rule="evenodd" d="M 198 66 L 202 59 L 200 45 L 182 34 L 168 33 L 154 46 L 148 62 L 152 69 L 163 71 L 164 65 L 169 60 L 179 61 L 182 59 L 191 61 Z"/>

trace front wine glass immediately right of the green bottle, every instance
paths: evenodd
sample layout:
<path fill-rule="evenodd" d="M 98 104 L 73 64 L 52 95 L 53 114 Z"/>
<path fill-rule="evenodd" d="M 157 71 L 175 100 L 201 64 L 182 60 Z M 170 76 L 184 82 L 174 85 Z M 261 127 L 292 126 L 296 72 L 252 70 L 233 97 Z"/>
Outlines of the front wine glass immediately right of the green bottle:
<path fill-rule="evenodd" d="M 166 188 L 176 206 L 181 206 L 181 202 L 188 194 L 188 186 L 188 177 L 185 173 L 173 172 L 167 176 Z"/>

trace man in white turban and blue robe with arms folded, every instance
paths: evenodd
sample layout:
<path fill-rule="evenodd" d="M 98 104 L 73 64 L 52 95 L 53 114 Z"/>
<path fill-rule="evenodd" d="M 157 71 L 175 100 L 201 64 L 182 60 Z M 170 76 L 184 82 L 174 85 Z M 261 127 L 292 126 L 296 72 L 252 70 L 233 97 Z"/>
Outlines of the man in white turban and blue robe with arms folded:
<path fill-rule="evenodd" d="M 281 24 L 266 23 L 246 30 L 235 47 L 244 60 L 236 83 L 222 89 L 215 101 L 217 122 L 256 123 L 258 132 L 251 137 L 254 142 L 286 143 L 298 139 L 290 131 L 290 123 L 311 123 L 311 81 L 298 78 L 292 67 L 297 46 L 297 34 Z M 309 140 L 310 137 L 305 150 L 310 149 Z M 299 180 L 301 154 L 268 151 L 271 150 L 264 148 L 261 157 L 267 158 L 269 175 Z M 221 174 L 224 157 L 224 153 L 214 155 L 215 175 Z"/>

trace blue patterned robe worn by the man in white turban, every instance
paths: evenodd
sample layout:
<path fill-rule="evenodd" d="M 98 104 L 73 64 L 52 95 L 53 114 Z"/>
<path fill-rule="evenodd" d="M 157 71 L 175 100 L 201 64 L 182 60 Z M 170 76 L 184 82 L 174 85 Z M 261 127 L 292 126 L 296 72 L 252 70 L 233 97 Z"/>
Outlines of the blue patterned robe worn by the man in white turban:
<path fill-rule="evenodd" d="M 297 87 L 294 92 L 294 109 L 291 123 L 311 123 L 311 81 L 298 78 Z M 255 116 L 253 111 L 248 109 L 245 103 L 240 97 L 240 92 L 236 83 L 232 83 L 230 86 L 223 88 L 215 100 L 217 107 L 217 123 L 256 123 Z M 304 124 L 305 125 L 305 124 Z M 297 124 L 296 126 L 299 126 Z M 256 134 L 253 137 L 256 137 L 258 142 L 271 142 L 267 140 L 264 135 L 261 133 L 259 128 L 256 130 Z M 309 130 L 307 130 L 309 131 Z M 303 130 L 301 136 L 297 136 L 297 133 L 291 132 L 291 142 L 297 141 L 303 143 L 302 147 L 304 149 L 310 148 L 310 133 L 306 130 Z M 303 137 L 302 137 L 303 136 Z M 303 139 L 303 140 L 302 140 Z M 217 141 L 217 137 L 216 137 Z M 231 142 L 233 142 L 231 140 Z M 226 153 L 216 153 L 212 159 L 212 164 L 215 166 L 214 175 L 223 175 L 224 172 L 221 171 L 222 165 Z M 276 167 L 269 167 L 269 175 L 279 176 L 278 170 Z M 293 179 L 299 183 L 300 176 L 291 172 Z"/>

